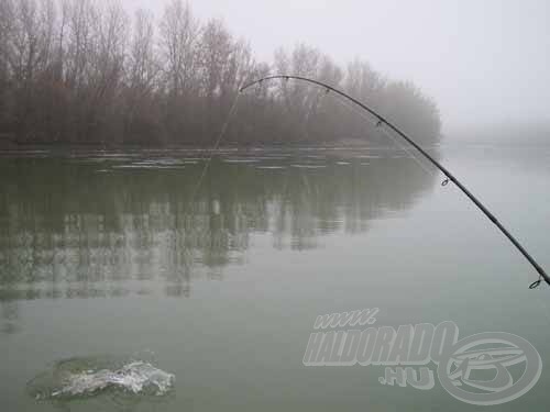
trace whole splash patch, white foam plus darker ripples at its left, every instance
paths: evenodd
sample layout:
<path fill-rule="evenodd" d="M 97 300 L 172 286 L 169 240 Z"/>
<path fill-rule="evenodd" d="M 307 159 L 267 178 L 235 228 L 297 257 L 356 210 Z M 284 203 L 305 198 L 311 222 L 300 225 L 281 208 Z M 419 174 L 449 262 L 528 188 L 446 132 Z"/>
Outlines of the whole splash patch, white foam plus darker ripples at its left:
<path fill-rule="evenodd" d="M 105 361 L 76 358 L 61 361 L 52 371 L 37 376 L 29 382 L 28 390 L 37 400 L 91 397 L 106 390 L 163 396 L 174 380 L 174 375 L 142 360 L 109 367 Z"/>

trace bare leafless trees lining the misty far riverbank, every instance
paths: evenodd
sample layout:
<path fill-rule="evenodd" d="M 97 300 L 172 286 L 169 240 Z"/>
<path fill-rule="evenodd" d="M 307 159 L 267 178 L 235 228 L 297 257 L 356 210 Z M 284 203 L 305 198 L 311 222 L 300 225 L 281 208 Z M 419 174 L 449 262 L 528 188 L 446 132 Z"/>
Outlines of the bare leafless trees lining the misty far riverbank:
<path fill-rule="evenodd" d="M 0 145 L 211 145 L 331 142 L 370 136 L 360 115 L 324 90 L 270 81 L 311 77 L 369 102 L 424 144 L 440 138 L 435 102 L 362 60 L 340 67 L 298 44 L 258 62 L 220 20 L 183 0 L 155 16 L 117 1 L 0 0 Z M 235 103 L 237 101 L 237 103 Z"/>

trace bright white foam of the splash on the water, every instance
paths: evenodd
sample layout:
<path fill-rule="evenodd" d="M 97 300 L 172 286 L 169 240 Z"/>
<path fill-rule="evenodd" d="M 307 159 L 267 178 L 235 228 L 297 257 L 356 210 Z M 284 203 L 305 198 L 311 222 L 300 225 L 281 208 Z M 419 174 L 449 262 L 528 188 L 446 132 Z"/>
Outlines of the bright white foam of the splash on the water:
<path fill-rule="evenodd" d="M 114 371 L 102 369 L 68 374 L 63 388 L 52 392 L 52 398 L 92 394 L 113 387 L 133 393 L 153 390 L 156 396 L 163 396 L 172 388 L 174 380 L 174 375 L 151 364 L 134 361 Z"/>

